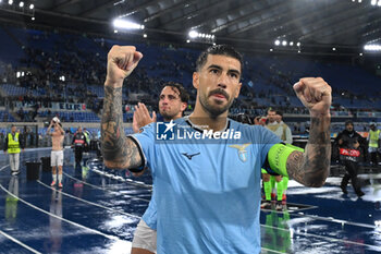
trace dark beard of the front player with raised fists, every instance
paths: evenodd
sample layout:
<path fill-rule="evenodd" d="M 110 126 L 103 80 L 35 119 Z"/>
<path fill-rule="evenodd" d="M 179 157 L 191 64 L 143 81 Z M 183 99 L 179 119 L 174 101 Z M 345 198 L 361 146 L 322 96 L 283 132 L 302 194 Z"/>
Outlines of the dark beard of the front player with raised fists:
<path fill-rule="evenodd" d="M 228 102 L 225 105 L 223 105 L 223 101 L 219 101 L 219 100 L 214 100 L 214 104 L 216 105 L 212 105 L 209 102 L 209 98 L 214 95 L 214 94 L 222 94 Z M 226 112 L 229 110 L 229 108 L 232 106 L 233 104 L 233 99 L 230 98 L 230 96 L 228 95 L 228 93 L 223 89 L 214 89 L 214 90 L 211 90 L 208 95 L 202 95 L 200 94 L 198 96 L 198 99 L 200 101 L 200 105 L 202 106 L 202 108 L 209 112 L 209 116 L 211 118 L 217 118 L 219 117 L 220 114 Z"/>

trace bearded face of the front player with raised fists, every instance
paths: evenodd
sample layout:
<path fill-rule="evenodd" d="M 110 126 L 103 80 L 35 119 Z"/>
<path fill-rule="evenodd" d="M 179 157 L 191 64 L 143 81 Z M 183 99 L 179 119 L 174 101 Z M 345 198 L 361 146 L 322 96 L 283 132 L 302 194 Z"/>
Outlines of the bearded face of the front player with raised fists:
<path fill-rule="evenodd" d="M 216 117 L 226 112 L 239 95 L 239 78 L 241 62 L 237 59 L 209 55 L 202 69 L 193 75 L 201 107 Z"/>

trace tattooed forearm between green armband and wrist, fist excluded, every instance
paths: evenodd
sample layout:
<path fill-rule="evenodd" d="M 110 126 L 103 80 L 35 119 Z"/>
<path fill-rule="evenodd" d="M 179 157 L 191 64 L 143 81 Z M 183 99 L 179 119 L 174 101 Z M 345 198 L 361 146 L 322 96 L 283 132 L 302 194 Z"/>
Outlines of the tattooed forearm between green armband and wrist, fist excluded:
<path fill-rule="evenodd" d="M 305 153 L 293 152 L 287 159 L 287 173 L 307 186 L 321 186 L 330 173 L 331 162 L 331 117 L 311 118 L 308 143 Z"/>

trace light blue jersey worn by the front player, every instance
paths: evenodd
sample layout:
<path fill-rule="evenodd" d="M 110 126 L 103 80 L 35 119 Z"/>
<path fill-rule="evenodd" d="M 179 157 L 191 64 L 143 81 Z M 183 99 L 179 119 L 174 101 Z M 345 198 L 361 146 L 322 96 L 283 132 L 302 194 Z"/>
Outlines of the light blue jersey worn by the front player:
<path fill-rule="evenodd" d="M 174 123 L 174 140 L 163 135 L 170 125 L 157 133 L 158 123 L 134 135 L 155 182 L 158 253 L 260 253 L 260 169 L 281 140 L 232 120 L 228 140 L 202 138 L 186 119 Z"/>

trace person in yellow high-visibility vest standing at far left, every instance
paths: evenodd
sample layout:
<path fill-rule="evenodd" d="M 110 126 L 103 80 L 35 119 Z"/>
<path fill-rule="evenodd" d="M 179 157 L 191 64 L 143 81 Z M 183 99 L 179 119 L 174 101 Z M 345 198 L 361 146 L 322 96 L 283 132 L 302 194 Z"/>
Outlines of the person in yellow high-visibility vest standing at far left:
<path fill-rule="evenodd" d="M 20 152 L 24 152 L 24 138 L 17 131 L 15 125 L 12 125 L 11 132 L 7 134 L 4 142 L 4 153 L 9 154 L 12 176 L 20 173 Z"/>

